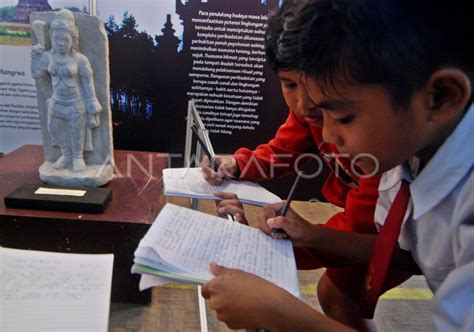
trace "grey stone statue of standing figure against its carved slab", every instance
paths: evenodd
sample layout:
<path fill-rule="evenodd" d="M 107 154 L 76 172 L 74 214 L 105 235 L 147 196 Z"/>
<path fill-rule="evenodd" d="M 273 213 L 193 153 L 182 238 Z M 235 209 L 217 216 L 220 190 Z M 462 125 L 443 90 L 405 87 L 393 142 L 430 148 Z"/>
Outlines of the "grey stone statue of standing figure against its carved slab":
<path fill-rule="evenodd" d="M 45 17 L 33 20 L 37 15 Z M 108 59 L 100 66 L 101 61 L 96 59 L 100 53 L 92 52 L 90 46 L 92 56 L 80 51 L 79 45 L 82 47 L 88 40 L 80 41 L 83 32 L 80 33 L 76 18 L 81 19 L 90 37 L 94 38 L 89 44 L 97 44 L 98 34 L 91 31 L 94 24 L 87 24 L 87 21 L 99 21 L 95 26 L 104 29 L 97 17 L 75 15 L 62 9 L 53 13 L 34 13 L 30 18 L 37 41 L 33 42 L 31 51 L 31 70 L 36 80 L 40 115 L 43 115 L 40 119 L 45 148 L 45 163 L 39 171 L 41 179 L 47 183 L 100 186 L 113 176 L 109 92 L 99 93 L 95 84 L 97 69 L 102 69 L 99 76 L 105 78 L 106 83 L 99 79 L 99 86 L 108 90 Z M 105 43 L 106 38 L 105 34 Z M 107 44 L 103 49 L 102 55 L 107 56 Z M 99 66 L 94 67 L 94 61 Z"/>

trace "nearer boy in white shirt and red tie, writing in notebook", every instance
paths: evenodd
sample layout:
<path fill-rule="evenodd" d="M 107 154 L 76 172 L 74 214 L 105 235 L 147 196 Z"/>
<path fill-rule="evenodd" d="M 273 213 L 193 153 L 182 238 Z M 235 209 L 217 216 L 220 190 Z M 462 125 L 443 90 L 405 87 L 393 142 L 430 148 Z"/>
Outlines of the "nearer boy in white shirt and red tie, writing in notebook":
<path fill-rule="evenodd" d="M 277 54 L 301 61 L 324 140 L 366 174 L 383 173 L 379 236 L 397 191 L 410 183 L 389 268 L 412 269 L 405 259 L 411 251 L 443 331 L 474 328 L 473 9 L 472 1 L 448 11 L 421 0 L 308 1 L 288 22 Z M 322 257 L 368 264 L 380 253 L 375 235 L 275 217 L 271 208 L 266 216 L 262 230 L 283 228 L 295 246 Z M 215 264 L 211 270 L 216 278 L 203 295 L 230 327 L 349 329 L 256 276 Z"/>

